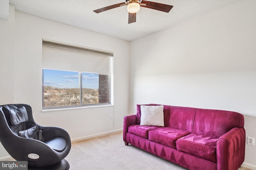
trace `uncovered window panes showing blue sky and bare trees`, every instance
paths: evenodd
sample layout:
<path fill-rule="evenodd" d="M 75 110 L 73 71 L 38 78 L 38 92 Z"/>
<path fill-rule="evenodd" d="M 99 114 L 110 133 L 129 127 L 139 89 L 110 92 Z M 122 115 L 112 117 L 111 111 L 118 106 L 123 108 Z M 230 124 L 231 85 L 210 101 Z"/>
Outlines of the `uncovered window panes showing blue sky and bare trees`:
<path fill-rule="evenodd" d="M 43 69 L 44 108 L 102 103 L 109 103 L 108 75 Z"/>

